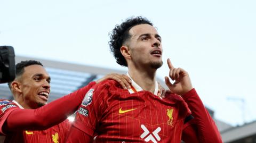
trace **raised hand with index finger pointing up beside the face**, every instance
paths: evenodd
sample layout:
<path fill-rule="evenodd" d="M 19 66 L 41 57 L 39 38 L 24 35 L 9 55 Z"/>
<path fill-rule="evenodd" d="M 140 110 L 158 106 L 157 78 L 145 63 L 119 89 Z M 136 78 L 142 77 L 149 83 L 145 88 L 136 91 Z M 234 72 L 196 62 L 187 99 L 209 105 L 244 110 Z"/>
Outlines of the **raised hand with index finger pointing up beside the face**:
<path fill-rule="evenodd" d="M 169 77 L 175 82 L 172 84 L 168 77 L 165 77 L 165 84 L 171 92 L 178 95 L 185 95 L 189 90 L 193 89 L 188 73 L 181 68 L 174 68 L 171 60 L 167 59 L 170 72 Z"/>

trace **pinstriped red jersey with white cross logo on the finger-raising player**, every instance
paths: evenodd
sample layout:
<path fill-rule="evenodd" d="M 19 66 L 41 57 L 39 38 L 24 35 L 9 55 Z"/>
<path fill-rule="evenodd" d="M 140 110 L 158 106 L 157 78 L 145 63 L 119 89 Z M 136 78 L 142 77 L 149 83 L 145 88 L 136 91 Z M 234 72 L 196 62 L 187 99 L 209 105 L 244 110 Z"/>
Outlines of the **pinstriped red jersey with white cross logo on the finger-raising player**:
<path fill-rule="evenodd" d="M 94 85 L 78 108 L 74 126 L 95 142 L 180 143 L 187 104 L 178 95 L 130 94 L 114 80 Z"/>

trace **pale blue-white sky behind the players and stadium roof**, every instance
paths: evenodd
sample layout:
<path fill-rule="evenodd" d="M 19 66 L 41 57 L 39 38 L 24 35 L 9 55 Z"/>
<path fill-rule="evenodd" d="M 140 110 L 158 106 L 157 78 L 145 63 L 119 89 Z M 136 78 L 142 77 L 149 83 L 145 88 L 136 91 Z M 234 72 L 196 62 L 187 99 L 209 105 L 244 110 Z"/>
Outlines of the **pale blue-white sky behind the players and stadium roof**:
<path fill-rule="evenodd" d="M 159 78 L 169 73 L 170 57 L 189 72 L 217 119 L 256 120 L 256 1 L 0 0 L 0 6 L 0 45 L 13 46 L 16 55 L 119 70 L 126 69 L 109 52 L 108 33 L 130 16 L 146 16 L 163 39 Z"/>

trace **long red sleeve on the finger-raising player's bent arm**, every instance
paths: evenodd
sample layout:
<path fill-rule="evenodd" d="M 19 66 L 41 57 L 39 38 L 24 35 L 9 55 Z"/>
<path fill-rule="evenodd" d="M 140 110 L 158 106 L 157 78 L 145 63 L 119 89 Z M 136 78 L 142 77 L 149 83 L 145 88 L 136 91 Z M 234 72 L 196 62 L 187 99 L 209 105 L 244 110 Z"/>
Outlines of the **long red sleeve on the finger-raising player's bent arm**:
<path fill-rule="evenodd" d="M 182 131 L 182 140 L 186 143 L 222 142 L 220 133 L 211 115 L 204 107 L 195 89 L 191 89 L 186 95 L 182 96 L 188 104 L 194 119 L 185 124 Z"/>

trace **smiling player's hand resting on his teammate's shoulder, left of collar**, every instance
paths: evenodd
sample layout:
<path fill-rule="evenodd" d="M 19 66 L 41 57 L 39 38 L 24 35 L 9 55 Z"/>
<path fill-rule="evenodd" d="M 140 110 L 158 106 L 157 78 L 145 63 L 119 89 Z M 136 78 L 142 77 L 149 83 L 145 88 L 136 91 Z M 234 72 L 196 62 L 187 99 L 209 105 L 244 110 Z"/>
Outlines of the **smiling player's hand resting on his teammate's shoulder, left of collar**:
<path fill-rule="evenodd" d="M 110 73 L 110 74 L 107 74 L 105 75 L 103 78 L 101 79 L 98 79 L 96 81 L 96 83 L 99 83 L 103 80 L 106 80 L 106 79 L 113 79 L 117 82 L 119 82 L 119 84 L 123 87 L 123 89 L 131 89 L 131 79 L 125 75 L 125 74 L 118 74 L 118 73 Z"/>

